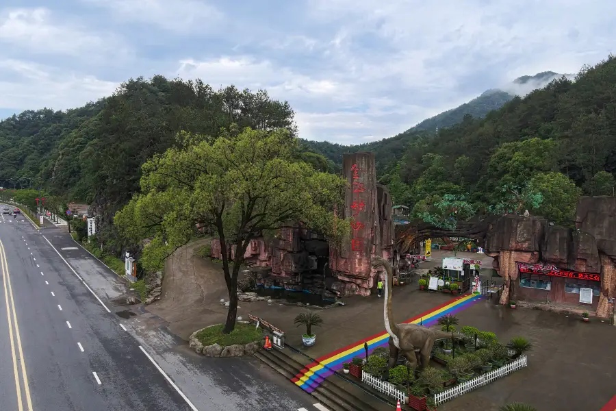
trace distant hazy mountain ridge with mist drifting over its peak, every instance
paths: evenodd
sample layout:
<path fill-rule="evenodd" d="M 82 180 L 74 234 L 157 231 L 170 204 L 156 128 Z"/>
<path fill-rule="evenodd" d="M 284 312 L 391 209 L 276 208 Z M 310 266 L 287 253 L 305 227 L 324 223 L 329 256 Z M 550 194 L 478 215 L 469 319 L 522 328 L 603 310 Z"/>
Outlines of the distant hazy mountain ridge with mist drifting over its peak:
<path fill-rule="evenodd" d="M 483 119 L 486 114 L 501 108 L 504 103 L 511 101 L 516 95 L 526 95 L 531 90 L 546 86 L 550 81 L 561 76 L 561 74 L 554 73 L 553 71 L 545 71 L 533 76 L 525 75 L 518 77 L 509 86 L 504 86 L 506 90 L 497 88 L 487 90 L 468 103 L 437 114 L 391 138 L 350 146 L 333 144 L 326 141 L 305 141 L 305 147 L 324 155 L 335 164 L 337 169 L 342 164 L 342 155 L 344 153 L 373 151 L 376 155 L 376 172 L 381 176 L 389 173 L 396 166 L 396 162 L 402 158 L 407 145 L 415 137 L 434 135 L 439 128 L 451 127 L 461 123 L 466 115 L 473 116 L 476 119 Z"/>

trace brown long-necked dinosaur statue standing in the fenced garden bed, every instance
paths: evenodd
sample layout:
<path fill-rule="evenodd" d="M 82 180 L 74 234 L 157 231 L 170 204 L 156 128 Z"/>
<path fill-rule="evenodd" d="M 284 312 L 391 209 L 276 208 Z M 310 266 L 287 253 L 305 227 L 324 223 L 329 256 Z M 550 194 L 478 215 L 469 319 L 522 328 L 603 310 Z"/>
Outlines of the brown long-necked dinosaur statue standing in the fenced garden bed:
<path fill-rule="evenodd" d="M 453 333 L 429 329 L 416 324 L 396 324 L 392 319 L 392 266 L 385 258 L 373 256 L 372 266 L 385 268 L 385 299 L 383 316 L 385 329 L 389 333 L 389 362 L 387 369 L 396 366 L 400 353 L 411 364 L 412 369 L 428 365 L 434 341 L 440 338 L 454 338 Z"/>

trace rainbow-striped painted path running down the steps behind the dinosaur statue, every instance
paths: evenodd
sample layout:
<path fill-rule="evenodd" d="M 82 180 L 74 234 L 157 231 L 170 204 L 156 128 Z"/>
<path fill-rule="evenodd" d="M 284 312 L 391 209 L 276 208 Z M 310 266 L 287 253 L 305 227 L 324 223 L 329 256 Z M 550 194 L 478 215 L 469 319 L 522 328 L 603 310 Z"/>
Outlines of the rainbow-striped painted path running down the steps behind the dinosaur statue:
<path fill-rule="evenodd" d="M 465 310 L 483 298 L 484 297 L 482 295 L 463 295 L 441 304 L 441 306 L 437 306 L 431 310 L 423 312 L 422 314 L 405 321 L 405 323 L 419 324 L 421 322 L 425 327 L 431 327 L 437 323 L 439 317 L 444 316 L 445 314 L 455 314 Z M 300 371 L 300 373 L 291 379 L 291 381 L 300 386 L 300 388 L 305 390 L 307 393 L 311 393 L 318 386 L 320 386 L 324 379 L 335 373 L 335 371 L 341 369 L 342 364 L 345 362 L 351 362 L 352 358 L 357 356 L 361 356 L 363 358 L 363 356 L 365 356 L 363 347 L 364 343 L 368 343 L 368 353 L 371 353 L 378 347 L 386 347 L 388 339 L 389 334 L 384 331 L 380 334 L 359 340 L 357 343 L 351 344 L 347 347 L 333 351 L 333 353 L 317 358 L 315 362 L 308 364 L 305 369 Z"/>

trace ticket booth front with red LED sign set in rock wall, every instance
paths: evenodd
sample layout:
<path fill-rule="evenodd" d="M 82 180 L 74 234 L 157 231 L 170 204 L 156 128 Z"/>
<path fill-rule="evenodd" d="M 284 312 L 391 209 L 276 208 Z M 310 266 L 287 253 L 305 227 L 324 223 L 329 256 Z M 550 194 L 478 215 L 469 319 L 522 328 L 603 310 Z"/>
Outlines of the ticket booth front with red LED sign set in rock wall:
<path fill-rule="evenodd" d="M 601 291 L 601 276 L 558 269 L 552 264 L 518 262 L 519 300 L 565 303 L 595 310 Z"/>

